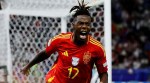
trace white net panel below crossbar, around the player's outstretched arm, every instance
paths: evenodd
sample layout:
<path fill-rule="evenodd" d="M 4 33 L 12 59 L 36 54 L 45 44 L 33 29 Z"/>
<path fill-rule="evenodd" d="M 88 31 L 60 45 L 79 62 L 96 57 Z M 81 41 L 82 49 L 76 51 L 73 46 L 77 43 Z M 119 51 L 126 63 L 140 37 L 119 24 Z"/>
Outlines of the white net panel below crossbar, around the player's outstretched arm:
<path fill-rule="evenodd" d="M 33 67 L 28 77 L 20 69 L 45 48 L 46 42 L 60 33 L 60 18 L 10 15 L 10 45 L 13 63 L 13 82 L 43 83 L 44 75 L 51 68 L 56 56 Z"/>

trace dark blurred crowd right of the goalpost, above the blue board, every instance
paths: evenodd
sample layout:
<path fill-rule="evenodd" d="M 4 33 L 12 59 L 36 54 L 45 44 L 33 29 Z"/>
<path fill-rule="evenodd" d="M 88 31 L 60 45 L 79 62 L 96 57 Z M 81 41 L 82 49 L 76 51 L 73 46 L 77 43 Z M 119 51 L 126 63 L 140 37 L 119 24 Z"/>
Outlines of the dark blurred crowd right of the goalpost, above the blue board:
<path fill-rule="evenodd" d="M 150 66 L 150 0 L 112 0 L 112 67 Z"/>

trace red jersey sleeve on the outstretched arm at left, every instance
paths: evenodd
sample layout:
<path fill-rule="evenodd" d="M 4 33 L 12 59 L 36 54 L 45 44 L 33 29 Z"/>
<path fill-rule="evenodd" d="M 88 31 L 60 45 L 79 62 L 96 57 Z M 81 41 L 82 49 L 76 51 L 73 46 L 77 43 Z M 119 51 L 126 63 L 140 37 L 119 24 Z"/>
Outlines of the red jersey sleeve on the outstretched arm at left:
<path fill-rule="evenodd" d="M 52 39 L 50 39 L 46 45 L 46 53 L 47 55 L 51 55 L 52 53 L 57 51 L 57 45 L 59 43 L 59 38 L 57 38 L 57 36 L 53 37 Z"/>

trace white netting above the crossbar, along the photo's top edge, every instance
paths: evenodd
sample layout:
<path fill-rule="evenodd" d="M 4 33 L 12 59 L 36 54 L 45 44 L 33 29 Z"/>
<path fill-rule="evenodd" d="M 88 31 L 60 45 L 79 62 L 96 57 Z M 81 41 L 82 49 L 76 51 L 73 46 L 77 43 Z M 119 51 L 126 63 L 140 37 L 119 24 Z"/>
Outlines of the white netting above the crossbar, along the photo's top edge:
<path fill-rule="evenodd" d="M 96 0 L 85 0 L 91 3 Z M 50 10 L 50 9 L 70 9 L 77 4 L 77 0 L 6 0 L 12 9 L 25 10 Z"/>

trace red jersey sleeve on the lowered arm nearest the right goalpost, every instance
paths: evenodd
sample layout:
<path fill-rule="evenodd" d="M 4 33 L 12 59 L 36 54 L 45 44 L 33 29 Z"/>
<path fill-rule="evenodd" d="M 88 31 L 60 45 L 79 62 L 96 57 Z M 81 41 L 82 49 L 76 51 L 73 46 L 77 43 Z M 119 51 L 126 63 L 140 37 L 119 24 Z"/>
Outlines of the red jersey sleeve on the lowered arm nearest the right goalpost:
<path fill-rule="evenodd" d="M 102 46 L 99 46 L 97 49 L 97 57 L 95 61 L 95 65 L 97 67 L 98 73 L 107 72 L 107 61 L 106 61 L 106 55 L 105 50 Z"/>

